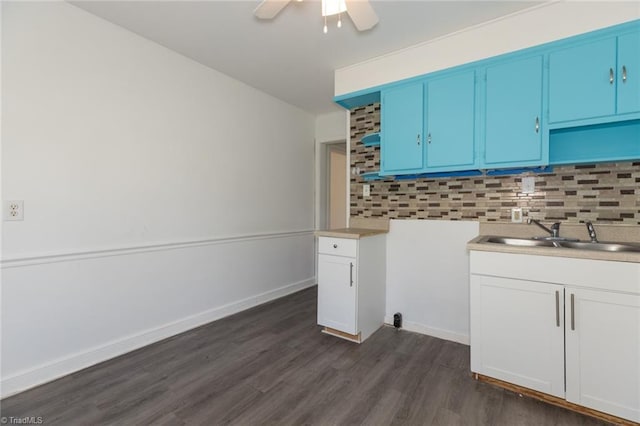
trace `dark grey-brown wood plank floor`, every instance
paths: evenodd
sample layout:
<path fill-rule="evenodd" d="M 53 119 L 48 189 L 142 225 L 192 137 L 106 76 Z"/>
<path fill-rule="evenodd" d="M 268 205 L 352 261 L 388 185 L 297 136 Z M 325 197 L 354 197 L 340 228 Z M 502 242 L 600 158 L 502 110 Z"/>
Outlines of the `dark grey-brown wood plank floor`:
<path fill-rule="evenodd" d="M 2 401 L 60 425 L 602 425 L 491 385 L 469 348 L 383 327 L 320 333 L 316 288 Z"/>

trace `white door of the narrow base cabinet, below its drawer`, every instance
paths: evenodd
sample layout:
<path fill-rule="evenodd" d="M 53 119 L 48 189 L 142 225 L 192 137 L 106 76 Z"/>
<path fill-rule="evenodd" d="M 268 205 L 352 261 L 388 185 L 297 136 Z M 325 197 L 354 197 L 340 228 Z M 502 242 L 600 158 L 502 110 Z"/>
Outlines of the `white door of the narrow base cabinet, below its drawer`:
<path fill-rule="evenodd" d="M 355 258 L 318 255 L 318 324 L 357 334 L 357 271 Z"/>

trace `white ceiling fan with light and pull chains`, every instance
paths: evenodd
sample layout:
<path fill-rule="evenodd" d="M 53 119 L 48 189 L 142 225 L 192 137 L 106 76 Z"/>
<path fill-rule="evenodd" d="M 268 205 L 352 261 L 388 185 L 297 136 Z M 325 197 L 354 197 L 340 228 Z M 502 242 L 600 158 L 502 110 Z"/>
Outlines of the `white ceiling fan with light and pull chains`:
<path fill-rule="evenodd" d="M 263 0 L 253 14 L 258 19 L 273 19 L 292 0 Z M 302 1 L 302 0 L 297 0 Z M 369 0 L 322 0 L 324 32 L 327 32 L 327 16 L 338 15 L 338 28 L 342 25 L 341 13 L 347 12 L 358 31 L 366 31 L 376 26 L 378 16 Z"/>

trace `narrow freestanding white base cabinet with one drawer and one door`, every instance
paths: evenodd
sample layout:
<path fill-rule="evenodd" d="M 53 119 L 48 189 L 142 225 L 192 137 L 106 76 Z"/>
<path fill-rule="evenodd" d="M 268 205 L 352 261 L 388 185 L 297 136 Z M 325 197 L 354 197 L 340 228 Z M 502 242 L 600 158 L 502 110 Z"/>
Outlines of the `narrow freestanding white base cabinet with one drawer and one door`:
<path fill-rule="evenodd" d="M 386 235 L 318 238 L 318 324 L 362 342 L 384 323 Z"/>

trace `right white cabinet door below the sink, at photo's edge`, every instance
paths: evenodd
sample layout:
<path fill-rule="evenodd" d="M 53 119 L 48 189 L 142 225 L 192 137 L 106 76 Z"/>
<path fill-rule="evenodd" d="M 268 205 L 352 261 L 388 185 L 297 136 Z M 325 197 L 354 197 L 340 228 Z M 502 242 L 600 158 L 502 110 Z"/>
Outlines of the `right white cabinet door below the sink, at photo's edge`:
<path fill-rule="evenodd" d="M 566 289 L 567 400 L 640 421 L 640 296 Z"/>

